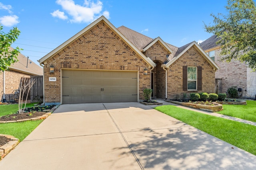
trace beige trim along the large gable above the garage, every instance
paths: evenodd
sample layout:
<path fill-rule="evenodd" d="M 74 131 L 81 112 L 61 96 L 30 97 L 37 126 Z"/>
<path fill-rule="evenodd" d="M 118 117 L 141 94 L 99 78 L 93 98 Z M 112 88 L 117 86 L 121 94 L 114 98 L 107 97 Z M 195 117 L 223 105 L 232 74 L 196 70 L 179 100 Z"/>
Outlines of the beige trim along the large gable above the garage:
<path fill-rule="evenodd" d="M 82 29 L 81 31 L 79 31 L 78 33 L 76 33 L 74 36 L 72 36 L 70 39 L 68 39 L 67 41 L 65 41 L 64 43 L 62 43 L 60 46 L 58 46 L 56 49 L 52 50 L 50 53 L 48 53 L 47 55 L 45 55 L 44 57 L 42 57 L 41 59 L 39 59 L 39 63 L 44 63 L 44 61 L 46 61 L 47 59 L 49 59 L 50 57 L 52 57 L 53 55 L 56 55 L 58 52 L 60 52 L 62 49 L 64 49 L 67 45 L 69 45 L 70 43 L 76 41 L 76 39 L 78 39 L 81 35 L 83 35 L 86 31 L 89 31 L 92 27 L 94 27 L 95 25 L 97 25 L 100 21 L 104 21 L 111 29 L 114 30 L 114 32 L 125 42 L 127 43 L 132 49 L 133 51 L 135 51 L 138 55 L 140 55 L 140 57 L 142 57 L 142 59 L 144 59 L 144 61 L 146 61 L 146 63 L 152 67 L 156 66 L 156 64 L 149 58 L 147 58 L 145 55 L 143 55 L 122 33 L 120 33 L 120 31 L 118 31 L 118 29 L 116 27 L 114 27 L 114 25 L 112 23 L 110 23 L 110 21 L 108 21 L 104 16 L 101 16 L 100 18 L 98 18 L 97 20 L 93 21 L 91 24 L 89 24 L 87 27 L 85 27 L 84 29 Z"/>

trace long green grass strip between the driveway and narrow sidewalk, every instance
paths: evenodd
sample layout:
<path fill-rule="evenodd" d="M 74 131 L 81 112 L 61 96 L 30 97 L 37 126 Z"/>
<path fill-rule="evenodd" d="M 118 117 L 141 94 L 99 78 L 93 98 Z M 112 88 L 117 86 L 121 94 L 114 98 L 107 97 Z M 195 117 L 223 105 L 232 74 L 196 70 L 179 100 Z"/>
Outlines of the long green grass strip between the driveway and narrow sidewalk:
<path fill-rule="evenodd" d="M 256 155 L 256 126 L 171 105 L 155 109 Z"/>

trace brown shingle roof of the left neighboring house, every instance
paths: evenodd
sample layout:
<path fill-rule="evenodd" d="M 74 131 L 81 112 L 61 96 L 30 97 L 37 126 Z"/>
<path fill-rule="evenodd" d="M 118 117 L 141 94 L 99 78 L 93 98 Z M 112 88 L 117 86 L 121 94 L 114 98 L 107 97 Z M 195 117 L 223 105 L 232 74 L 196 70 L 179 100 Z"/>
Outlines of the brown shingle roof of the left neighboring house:
<path fill-rule="evenodd" d="M 9 49 L 11 51 L 13 50 L 12 47 L 9 47 Z M 18 62 L 11 64 L 11 66 L 9 67 L 10 70 L 15 70 L 33 76 L 43 75 L 43 68 L 40 67 L 38 64 L 34 63 L 33 61 L 31 61 L 29 57 L 26 57 L 19 53 L 17 58 Z"/>

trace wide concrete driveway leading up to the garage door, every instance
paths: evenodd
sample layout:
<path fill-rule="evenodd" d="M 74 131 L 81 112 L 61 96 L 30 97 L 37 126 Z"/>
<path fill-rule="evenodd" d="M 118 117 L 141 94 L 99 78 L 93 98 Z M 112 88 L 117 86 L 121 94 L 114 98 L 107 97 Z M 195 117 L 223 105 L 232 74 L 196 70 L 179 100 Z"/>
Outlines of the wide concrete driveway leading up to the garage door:
<path fill-rule="evenodd" d="M 0 169 L 249 170 L 256 156 L 140 103 L 66 104 Z"/>

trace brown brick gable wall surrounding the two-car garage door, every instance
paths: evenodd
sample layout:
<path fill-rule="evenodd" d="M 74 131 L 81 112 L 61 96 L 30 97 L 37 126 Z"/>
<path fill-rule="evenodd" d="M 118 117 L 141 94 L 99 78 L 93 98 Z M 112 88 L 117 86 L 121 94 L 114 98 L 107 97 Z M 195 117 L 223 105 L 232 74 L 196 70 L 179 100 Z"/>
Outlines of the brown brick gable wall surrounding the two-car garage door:
<path fill-rule="evenodd" d="M 54 73 L 49 66 L 54 66 Z M 58 54 L 48 59 L 44 67 L 44 95 L 46 103 L 61 100 L 61 69 L 137 70 L 139 72 L 139 100 L 144 88 L 150 88 L 150 74 L 144 75 L 148 64 L 141 59 L 118 35 L 101 21 Z M 56 82 L 49 82 L 56 77 Z"/>

